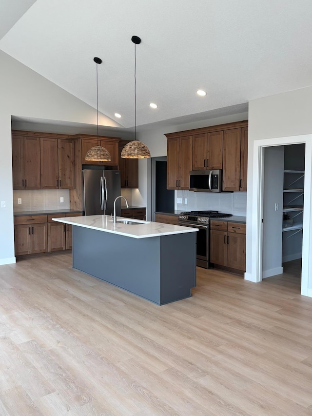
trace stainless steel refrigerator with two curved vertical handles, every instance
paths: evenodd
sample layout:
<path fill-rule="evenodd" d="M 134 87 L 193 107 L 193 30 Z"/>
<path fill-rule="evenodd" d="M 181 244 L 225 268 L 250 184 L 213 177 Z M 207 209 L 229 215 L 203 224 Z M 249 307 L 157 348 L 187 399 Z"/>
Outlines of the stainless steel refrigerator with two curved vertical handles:
<path fill-rule="evenodd" d="M 120 171 L 103 169 L 82 170 L 83 215 L 113 215 L 114 200 L 120 196 Z M 116 214 L 120 216 L 120 198 Z"/>

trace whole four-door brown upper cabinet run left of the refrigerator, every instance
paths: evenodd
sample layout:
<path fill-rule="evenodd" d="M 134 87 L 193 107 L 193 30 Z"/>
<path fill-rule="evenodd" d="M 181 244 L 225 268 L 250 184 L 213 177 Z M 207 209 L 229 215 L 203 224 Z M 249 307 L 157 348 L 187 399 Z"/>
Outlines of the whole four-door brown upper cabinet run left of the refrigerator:
<path fill-rule="evenodd" d="M 13 189 L 74 189 L 74 141 L 42 136 L 13 132 Z"/>

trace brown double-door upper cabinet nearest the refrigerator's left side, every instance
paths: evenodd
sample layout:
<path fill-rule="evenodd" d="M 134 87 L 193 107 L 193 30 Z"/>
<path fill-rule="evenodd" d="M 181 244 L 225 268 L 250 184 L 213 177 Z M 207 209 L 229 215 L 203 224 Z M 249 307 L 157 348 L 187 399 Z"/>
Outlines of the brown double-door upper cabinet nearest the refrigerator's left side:
<path fill-rule="evenodd" d="M 40 166 L 41 189 L 74 189 L 74 141 L 40 138 Z"/>

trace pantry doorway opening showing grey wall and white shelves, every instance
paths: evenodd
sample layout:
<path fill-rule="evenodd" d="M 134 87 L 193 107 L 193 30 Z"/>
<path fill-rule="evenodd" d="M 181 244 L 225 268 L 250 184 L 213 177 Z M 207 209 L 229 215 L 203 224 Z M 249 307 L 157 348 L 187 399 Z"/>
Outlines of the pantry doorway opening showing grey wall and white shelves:
<path fill-rule="evenodd" d="M 304 143 L 264 149 L 262 278 L 300 282 L 304 171 Z"/>

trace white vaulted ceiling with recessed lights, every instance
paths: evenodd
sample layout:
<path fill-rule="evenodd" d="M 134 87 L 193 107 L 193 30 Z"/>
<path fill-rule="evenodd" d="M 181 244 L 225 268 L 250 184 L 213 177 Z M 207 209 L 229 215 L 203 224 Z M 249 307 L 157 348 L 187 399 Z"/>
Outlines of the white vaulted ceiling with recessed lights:
<path fill-rule="evenodd" d="M 101 58 L 99 111 L 131 128 L 133 35 L 137 125 L 188 122 L 312 85 L 311 18 L 311 0 L 0 0 L 0 50 L 95 108 Z"/>

